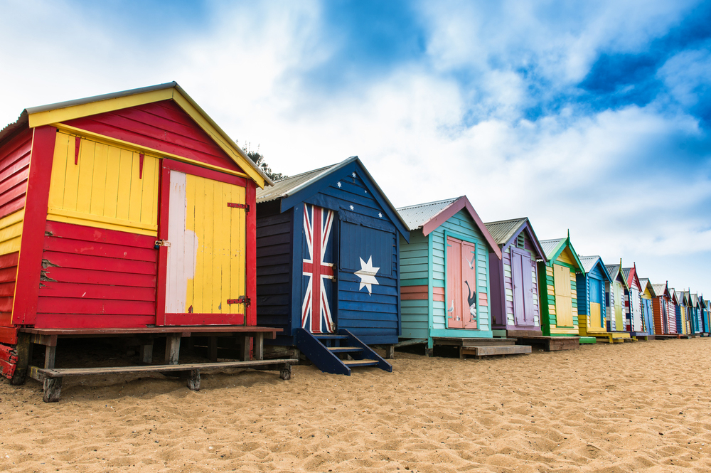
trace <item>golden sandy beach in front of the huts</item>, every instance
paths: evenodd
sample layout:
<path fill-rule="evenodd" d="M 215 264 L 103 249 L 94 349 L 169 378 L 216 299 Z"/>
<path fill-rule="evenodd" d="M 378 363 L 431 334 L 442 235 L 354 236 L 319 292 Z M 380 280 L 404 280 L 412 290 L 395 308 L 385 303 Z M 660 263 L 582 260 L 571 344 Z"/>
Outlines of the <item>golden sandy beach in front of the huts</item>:
<path fill-rule="evenodd" d="M 466 359 L 0 383 L 0 470 L 708 472 L 711 340 Z"/>

